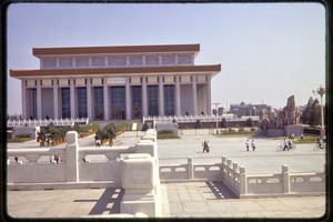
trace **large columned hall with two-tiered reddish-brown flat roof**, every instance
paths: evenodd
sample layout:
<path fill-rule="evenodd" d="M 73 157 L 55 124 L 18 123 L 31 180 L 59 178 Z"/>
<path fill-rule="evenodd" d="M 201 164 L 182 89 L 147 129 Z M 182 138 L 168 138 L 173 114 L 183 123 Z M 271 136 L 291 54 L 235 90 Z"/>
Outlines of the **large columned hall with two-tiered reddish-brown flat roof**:
<path fill-rule="evenodd" d="M 221 64 L 194 65 L 200 44 L 33 48 L 21 80 L 23 119 L 130 120 L 211 114 Z"/>

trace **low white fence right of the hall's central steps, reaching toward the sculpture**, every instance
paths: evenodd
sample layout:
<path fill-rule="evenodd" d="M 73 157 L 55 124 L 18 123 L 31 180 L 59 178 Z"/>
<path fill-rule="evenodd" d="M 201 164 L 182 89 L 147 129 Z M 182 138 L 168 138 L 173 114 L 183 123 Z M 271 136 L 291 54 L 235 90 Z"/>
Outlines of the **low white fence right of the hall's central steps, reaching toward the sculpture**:
<path fill-rule="evenodd" d="M 201 122 L 221 122 L 223 118 L 225 118 L 226 121 L 246 121 L 249 118 L 251 118 L 253 121 L 259 121 L 258 115 L 243 115 L 241 118 L 238 118 L 234 114 L 222 114 L 222 115 L 159 115 L 159 117 L 143 117 L 144 121 L 154 121 L 155 123 L 163 123 L 163 122 L 172 122 L 176 121 L 179 123 L 181 122 L 196 122 L 196 120 L 200 120 Z"/>

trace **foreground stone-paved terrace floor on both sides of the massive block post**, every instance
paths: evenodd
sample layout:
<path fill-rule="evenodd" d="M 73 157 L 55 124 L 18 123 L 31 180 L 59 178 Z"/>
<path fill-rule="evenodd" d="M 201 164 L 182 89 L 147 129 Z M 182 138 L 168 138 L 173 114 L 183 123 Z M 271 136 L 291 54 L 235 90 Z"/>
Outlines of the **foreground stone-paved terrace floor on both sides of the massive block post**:
<path fill-rule="evenodd" d="M 9 191 L 12 218 L 95 218 L 120 213 L 121 189 Z M 163 218 L 315 219 L 325 196 L 235 199 L 219 182 L 162 183 Z"/>

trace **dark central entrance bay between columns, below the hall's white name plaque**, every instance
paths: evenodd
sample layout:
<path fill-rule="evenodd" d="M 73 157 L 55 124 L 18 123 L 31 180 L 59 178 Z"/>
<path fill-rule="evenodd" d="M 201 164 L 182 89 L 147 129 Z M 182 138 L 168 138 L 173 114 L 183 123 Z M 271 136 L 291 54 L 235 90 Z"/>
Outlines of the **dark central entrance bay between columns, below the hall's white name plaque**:
<path fill-rule="evenodd" d="M 111 87 L 111 119 L 125 120 L 124 87 Z"/>

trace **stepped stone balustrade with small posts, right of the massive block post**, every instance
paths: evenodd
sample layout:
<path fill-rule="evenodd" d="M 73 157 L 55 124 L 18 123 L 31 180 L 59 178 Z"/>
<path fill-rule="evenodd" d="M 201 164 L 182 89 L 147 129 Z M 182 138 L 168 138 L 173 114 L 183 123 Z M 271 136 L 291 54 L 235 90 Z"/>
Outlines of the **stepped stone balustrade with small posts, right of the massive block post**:
<path fill-rule="evenodd" d="M 220 181 L 239 198 L 323 195 L 325 193 L 325 173 L 289 173 L 289 167 L 282 165 L 281 174 L 246 175 L 245 167 L 239 167 L 226 157 L 221 163 L 193 164 L 189 158 L 186 164 L 160 165 L 162 182 Z"/>

